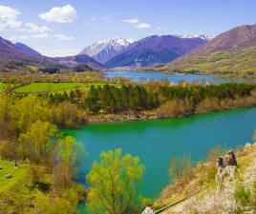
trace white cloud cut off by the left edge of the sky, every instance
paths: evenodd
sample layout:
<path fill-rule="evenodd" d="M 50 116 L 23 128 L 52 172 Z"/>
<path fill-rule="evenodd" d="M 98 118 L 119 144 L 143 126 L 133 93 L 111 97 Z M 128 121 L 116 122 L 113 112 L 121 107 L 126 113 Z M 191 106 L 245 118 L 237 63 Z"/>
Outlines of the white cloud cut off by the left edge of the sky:
<path fill-rule="evenodd" d="M 18 20 L 19 14 L 18 10 L 0 5 L 0 30 L 19 28 L 22 25 L 22 22 Z"/>

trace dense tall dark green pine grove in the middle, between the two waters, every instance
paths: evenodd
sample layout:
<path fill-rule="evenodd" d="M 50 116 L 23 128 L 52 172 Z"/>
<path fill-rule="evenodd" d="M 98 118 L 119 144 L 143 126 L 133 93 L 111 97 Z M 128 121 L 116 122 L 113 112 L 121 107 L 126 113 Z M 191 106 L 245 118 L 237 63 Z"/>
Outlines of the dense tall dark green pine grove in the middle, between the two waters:
<path fill-rule="evenodd" d="M 158 107 L 158 95 L 142 86 L 124 86 L 116 88 L 105 85 L 103 88 L 90 88 L 85 106 L 92 112 L 119 112 L 143 110 Z"/>

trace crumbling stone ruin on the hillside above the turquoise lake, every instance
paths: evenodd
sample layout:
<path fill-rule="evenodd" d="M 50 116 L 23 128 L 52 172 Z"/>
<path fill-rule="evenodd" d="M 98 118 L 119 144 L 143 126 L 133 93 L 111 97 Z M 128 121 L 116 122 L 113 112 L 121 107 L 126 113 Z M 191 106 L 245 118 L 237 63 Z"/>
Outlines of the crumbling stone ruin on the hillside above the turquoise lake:
<path fill-rule="evenodd" d="M 218 183 L 223 182 L 224 178 L 232 179 L 236 173 L 237 160 L 233 150 L 229 150 L 223 157 L 218 157 L 216 180 Z"/>

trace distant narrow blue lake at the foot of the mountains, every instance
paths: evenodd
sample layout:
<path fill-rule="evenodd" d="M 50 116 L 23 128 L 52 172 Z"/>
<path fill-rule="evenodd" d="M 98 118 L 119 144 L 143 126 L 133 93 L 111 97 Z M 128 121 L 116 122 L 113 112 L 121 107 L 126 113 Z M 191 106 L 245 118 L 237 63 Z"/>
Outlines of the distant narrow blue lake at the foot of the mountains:
<path fill-rule="evenodd" d="M 221 83 L 243 83 L 243 82 L 256 82 L 255 79 L 236 79 L 230 77 L 220 77 L 213 75 L 194 75 L 194 74 L 167 74 L 154 71 L 139 72 L 137 70 L 121 70 L 113 71 L 108 70 L 104 73 L 107 78 L 113 77 L 128 77 L 132 81 L 147 82 L 149 80 L 169 80 L 177 84 L 180 81 L 188 83 L 203 82 L 207 84 L 221 84 Z"/>

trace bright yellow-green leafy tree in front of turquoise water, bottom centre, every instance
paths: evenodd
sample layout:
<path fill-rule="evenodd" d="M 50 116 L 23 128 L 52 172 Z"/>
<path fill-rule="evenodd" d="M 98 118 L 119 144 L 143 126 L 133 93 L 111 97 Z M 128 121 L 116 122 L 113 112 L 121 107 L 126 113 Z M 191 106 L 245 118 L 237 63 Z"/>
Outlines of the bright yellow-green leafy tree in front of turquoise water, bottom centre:
<path fill-rule="evenodd" d="M 100 162 L 95 162 L 87 175 L 90 213 L 138 213 L 142 201 L 137 191 L 144 170 L 138 157 L 122 157 L 121 149 L 102 152 Z"/>

